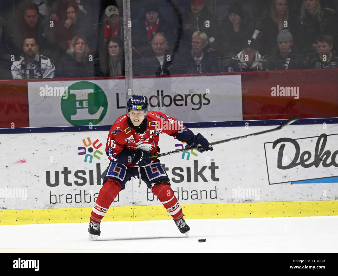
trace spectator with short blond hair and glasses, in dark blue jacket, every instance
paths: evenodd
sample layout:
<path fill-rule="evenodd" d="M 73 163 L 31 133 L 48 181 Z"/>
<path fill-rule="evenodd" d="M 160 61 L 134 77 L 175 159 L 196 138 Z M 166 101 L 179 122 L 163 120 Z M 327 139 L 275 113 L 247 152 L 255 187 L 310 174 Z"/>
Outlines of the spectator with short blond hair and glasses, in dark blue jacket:
<path fill-rule="evenodd" d="M 206 33 L 196 31 L 192 35 L 192 49 L 177 58 L 175 71 L 177 74 L 208 74 L 219 73 L 216 55 L 206 51 L 208 36 Z"/>

